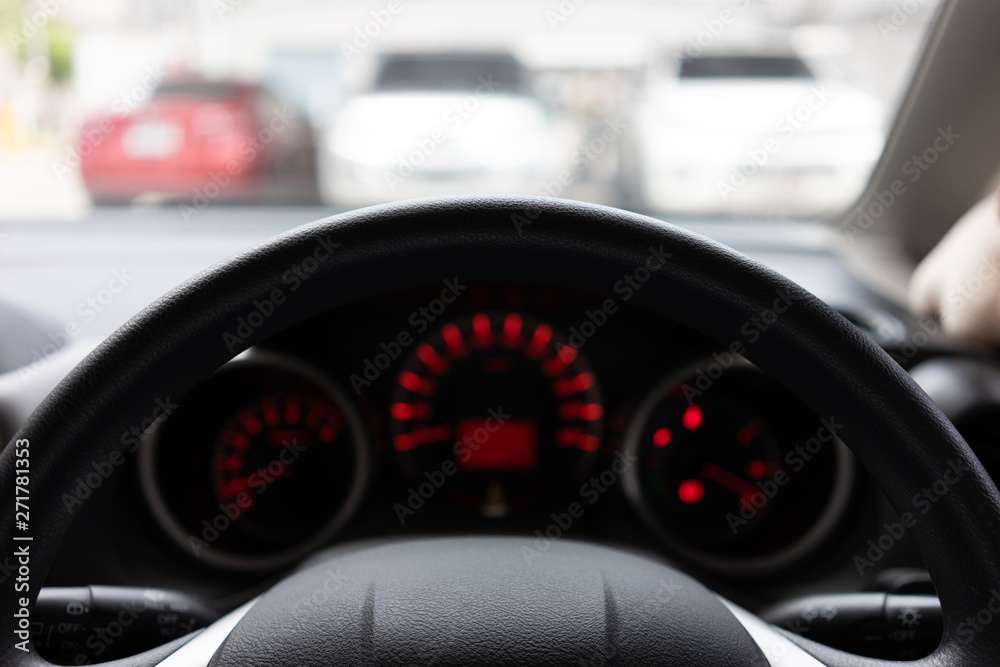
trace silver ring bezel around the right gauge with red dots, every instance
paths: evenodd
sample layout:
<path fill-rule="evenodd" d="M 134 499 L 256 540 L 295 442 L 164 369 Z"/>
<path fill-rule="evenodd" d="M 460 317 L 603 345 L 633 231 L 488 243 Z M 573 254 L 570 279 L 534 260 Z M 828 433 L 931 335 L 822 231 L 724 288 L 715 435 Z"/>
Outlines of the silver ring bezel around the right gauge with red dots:
<path fill-rule="evenodd" d="M 646 421 L 663 397 L 671 388 L 690 379 L 699 369 L 703 370 L 707 366 L 717 363 L 718 361 L 713 357 L 704 357 L 670 372 L 664 379 L 657 382 L 633 412 L 622 438 L 622 452 L 626 456 L 638 456 L 639 439 L 642 437 Z M 743 357 L 738 357 L 733 365 L 723 372 L 730 373 L 734 370 L 753 371 L 766 376 L 757 366 Z M 836 470 L 834 471 L 833 488 L 823 511 L 813 525 L 801 536 L 777 551 L 759 556 L 742 557 L 714 554 L 693 546 L 673 534 L 657 518 L 656 513 L 645 498 L 639 480 L 639 465 L 630 466 L 625 471 L 622 487 L 639 518 L 674 553 L 720 574 L 773 574 L 801 562 L 812 553 L 830 536 L 847 512 L 854 492 L 856 463 L 854 454 L 840 438 L 834 436 L 833 445 Z"/>

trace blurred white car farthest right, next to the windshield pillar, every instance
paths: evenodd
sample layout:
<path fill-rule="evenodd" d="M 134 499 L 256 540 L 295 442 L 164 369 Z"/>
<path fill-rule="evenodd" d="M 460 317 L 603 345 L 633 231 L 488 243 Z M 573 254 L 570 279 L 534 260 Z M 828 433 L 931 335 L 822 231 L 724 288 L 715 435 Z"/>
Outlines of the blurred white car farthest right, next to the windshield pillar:
<path fill-rule="evenodd" d="M 650 210 L 817 215 L 850 203 L 885 143 L 878 100 L 795 56 L 701 56 L 678 70 L 637 112 Z"/>

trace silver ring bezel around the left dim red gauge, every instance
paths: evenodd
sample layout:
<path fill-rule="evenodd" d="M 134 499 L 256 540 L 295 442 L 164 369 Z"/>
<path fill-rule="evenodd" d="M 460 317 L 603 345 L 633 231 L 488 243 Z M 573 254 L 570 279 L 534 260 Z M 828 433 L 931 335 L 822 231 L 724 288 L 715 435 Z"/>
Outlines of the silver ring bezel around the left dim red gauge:
<path fill-rule="evenodd" d="M 240 572 L 263 572 L 284 567 L 328 543 L 335 537 L 357 512 L 368 489 L 372 471 L 372 446 L 364 420 L 354 401 L 334 380 L 312 366 L 285 354 L 261 351 L 251 348 L 236 356 L 208 376 L 202 383 L 217 381 L 234 369 L 271 368 L 297 375 L 323 391 L 334 402 L 344 416 L 344 423 L 350 430 L 354 447 L 354 472 L 351 487 L 344 501 L 330 520 L 309 538 L 292 547 L 263 554 L 241 554 L 225 551 L 217 547 L 202 550 L 198 555 L 191 552 L 189 538 L 191 531 L 174 516 L 156 470 L 156 454 L 166 419 L 154 422 L 140 438 L 138 452 L 139 477 L 146 503 L 154 518 L 176 546 L 190 558 L 217 568 Z"/>

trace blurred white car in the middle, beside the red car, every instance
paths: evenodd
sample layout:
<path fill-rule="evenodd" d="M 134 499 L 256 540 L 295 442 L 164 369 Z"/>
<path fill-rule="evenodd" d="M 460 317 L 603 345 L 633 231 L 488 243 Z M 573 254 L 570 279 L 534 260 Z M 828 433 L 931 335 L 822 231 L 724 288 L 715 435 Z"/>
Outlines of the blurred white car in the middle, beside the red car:
<path fill-rule="evenodd" d="M 375 90 L 347 102 L 325 133 L 322 193 L 334 206 L 538 194 L 558 170 L 558 134 L 509 56 L 394 55 Z"/>

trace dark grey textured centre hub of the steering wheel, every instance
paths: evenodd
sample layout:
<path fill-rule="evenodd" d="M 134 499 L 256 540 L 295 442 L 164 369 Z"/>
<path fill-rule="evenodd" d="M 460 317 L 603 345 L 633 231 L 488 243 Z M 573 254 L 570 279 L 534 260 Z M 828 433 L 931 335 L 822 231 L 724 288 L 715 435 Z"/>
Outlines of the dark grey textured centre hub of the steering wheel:
<path fill-rule="evenodd" d="M 711 642 L 704 638 L 711 636 Z M 443 538 L 318 559 L 266 593 L 218 667 L 767 665 L 726 606 L 653 560 L 559 540 Z"/>

